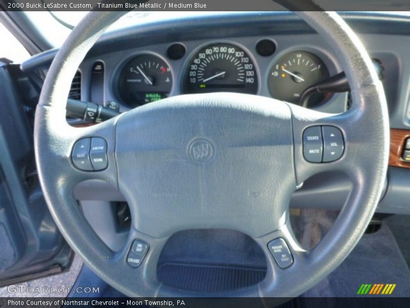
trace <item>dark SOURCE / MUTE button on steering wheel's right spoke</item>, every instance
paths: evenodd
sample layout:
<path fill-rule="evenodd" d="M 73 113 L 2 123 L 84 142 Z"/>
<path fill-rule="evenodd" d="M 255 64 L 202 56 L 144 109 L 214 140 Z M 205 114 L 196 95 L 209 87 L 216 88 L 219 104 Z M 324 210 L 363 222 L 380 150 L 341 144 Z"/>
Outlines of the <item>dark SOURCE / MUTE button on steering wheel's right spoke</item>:
<path fill-rule="evenodd" d="M 322 161 L 323 142 L 320 126 L 306 128 L 303 132 L 303 157 L 311 163 Z"/>

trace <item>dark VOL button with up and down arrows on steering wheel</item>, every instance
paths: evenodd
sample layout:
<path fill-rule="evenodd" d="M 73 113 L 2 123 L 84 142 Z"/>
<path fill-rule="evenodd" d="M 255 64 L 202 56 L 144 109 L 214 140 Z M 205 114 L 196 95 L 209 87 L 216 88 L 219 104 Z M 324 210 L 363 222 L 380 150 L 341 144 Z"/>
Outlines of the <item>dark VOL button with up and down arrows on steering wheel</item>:
<path fill-rule="evenodd" d="M 344 141 L 342 132 L 335 126 L 322 126 L 323 162 L 333 162 L 343 155 Z"/>

